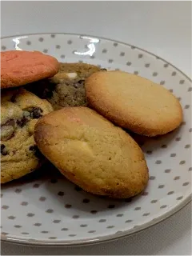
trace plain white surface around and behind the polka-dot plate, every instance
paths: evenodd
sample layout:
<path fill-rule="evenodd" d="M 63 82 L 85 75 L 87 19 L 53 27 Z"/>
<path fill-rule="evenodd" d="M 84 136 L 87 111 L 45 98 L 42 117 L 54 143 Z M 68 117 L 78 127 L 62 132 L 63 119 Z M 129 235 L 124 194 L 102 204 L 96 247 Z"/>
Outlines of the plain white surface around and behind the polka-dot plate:
<path fill-rule="evenodd" d="M 68 32 L 129 42 L 192 77 L 191 0 L 2 0 L 0 37 Z M 192 203 L 132 237 L 97 246 L 37 248 L 0 243 L 0 255 L 192 255 Z"/>

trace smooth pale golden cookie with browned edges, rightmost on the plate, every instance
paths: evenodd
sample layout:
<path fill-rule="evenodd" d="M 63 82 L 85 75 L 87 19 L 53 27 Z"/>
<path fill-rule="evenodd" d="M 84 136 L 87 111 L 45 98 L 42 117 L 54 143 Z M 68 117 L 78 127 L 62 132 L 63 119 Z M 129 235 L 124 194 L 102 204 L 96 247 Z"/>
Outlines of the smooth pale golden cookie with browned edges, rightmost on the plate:
<path fill-rule="evenodd" d="M 94 110 L 134 133 L 166 134 L 182 122 L 178 99 L 146 78 L 122 71 L 98 72 L 86 79 L 85 86 Z"/>

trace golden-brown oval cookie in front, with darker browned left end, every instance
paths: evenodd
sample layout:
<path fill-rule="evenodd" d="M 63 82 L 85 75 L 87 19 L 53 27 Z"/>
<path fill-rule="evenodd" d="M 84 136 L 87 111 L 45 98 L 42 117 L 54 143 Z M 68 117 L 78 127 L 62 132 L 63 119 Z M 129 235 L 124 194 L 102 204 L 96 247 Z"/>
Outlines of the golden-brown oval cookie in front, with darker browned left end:
<path fill-rule="evenodd" d="M 121 128 L 86 107 L 66 107 L 39 119 L 34 139 L 71 182 L 92 194 L 129 198 L 148 181 L 138 144 Z"/>

